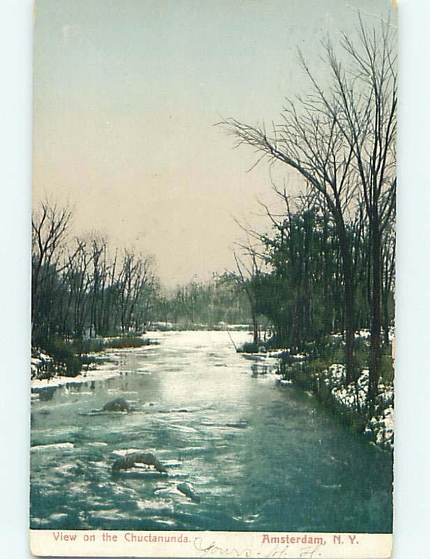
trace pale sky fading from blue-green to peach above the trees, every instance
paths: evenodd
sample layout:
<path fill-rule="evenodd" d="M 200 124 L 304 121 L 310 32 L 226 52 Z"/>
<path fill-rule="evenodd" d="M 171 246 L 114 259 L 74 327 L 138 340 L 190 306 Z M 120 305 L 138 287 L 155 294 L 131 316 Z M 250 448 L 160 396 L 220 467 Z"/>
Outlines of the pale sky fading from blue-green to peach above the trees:
<path fill-rule="evenodd" d="M 214 124 L 279 120 L 317 77 L 319 40 L 395 14 L 389 0 L 40 0 L 34 60 L 34 202 L 74 205 L 77 233 L 155 254 L 163 284 L 234 267 L 269 170 Z M 299 178 L 274 168 L 288 189 Z"/>

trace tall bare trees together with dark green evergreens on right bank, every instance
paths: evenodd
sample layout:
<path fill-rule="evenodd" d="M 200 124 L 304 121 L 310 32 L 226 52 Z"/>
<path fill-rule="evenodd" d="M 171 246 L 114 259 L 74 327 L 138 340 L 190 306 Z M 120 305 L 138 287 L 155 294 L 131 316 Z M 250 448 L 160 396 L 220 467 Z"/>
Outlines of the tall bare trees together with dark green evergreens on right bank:
<path fill-rule="evenodd" d="M 272 272 L 249 278 L 256 310 L 272 321 L 279 342 L 293 347 L 343 331 L 348 382 L 359 375 L 355 330 L 368 327 L 372 400 L 394 289 L 395 30 L 390 22 L 366 29 L 359 17 L 357 44 L 341 34 L 340 48 L 338 55 L 323 43 L 327 80 L 318 81 L 300 55 L 309 92 L 286 99 L 269 131 L 237 119 L 220 124 L 237 145 L 296 173 L 306 189 L 293 207 L 275 186 L 286 212 L 281 219 L 268 212 L 275 234 L 260 240 Z"/>

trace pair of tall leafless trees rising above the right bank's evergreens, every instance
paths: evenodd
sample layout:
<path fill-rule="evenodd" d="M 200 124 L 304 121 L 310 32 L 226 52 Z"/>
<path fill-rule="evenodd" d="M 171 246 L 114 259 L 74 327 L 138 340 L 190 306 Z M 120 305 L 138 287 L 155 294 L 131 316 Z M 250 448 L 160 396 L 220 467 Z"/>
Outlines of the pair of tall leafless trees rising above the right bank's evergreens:
<path fill-rule="evenodd" d="M 356 42 L 341 35 L 339 54 L 329 41 L 322 45 L 327 82 L 319 82 L 301 57 L 309 78 L 309 92 L 286 100 L 281 122 L 273 124 L 270 132 L 265 126 L 251 126 L 237 119 L 221 123 L 237 138 L 238 145 L 249 145 L 260 152 L 260 159 L 287 166 L 301 176 L 304 188 L 313 194 L 316 209 L 311 212 L 323 219 L 323 227 L 332 228 L 334 251 L 339 253 L 340 264 L 336 273 L 341 274 L 343 291 L 342 329 L 348 382 L 359 375 L 355 328 L 357 314 L 363 314 L 357 306 L 362 304 L 359 284 L 367 282 L 367 326 L 371 331 L 369 400 L 376 395 L 378 386 L 381 327 L 388 321 L 394 283 L 395 36 L 390 22 L 366 29 L 359 17 Z M 281 236 L 285 224 L 291 234 L 290 211 L 279 224 Z M 325 256 L 334 258 L 332 248 L 326 246 L 323 251 Z M 358 259 L 362 259 L 364 268 L 357 268 Z M 320 281 L 328 289 L 328 279 Z M 332 303 L 339 305 L 337 300 Z"/>

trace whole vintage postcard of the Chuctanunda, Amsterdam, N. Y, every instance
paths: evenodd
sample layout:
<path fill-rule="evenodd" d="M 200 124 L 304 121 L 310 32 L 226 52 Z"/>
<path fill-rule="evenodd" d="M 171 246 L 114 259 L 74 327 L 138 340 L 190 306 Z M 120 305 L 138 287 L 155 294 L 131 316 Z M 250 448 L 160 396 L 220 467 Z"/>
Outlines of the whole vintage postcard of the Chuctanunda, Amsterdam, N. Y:
<path fill-rule="evenodd" d="M 32 553 L 390 557 L 394 3 L 34 25 Z"/>

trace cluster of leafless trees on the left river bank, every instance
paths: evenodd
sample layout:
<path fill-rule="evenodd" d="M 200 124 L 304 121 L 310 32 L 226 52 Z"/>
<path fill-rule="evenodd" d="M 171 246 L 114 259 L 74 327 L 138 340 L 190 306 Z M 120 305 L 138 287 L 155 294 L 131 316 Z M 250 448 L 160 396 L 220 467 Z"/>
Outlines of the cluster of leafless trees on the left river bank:
<path fill-rule="evenodd" d="M 154 259 L 110 251 L 96 235 L 71 238 L 72 212 L 43 202 L 32 219 L 31 326 L 34 344 L 56 336 L 139 331 L 158 294 Z"/>

